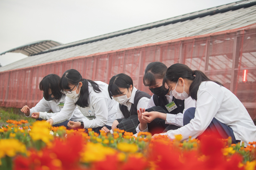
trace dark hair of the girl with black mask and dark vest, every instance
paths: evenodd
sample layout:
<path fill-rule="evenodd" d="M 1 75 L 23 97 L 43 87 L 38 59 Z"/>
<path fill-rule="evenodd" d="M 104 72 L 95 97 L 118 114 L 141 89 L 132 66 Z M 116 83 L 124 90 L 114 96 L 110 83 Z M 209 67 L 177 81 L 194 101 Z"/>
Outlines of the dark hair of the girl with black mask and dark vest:
<path fill-rule="evenodd" d="M 155 86 L 155 79 L 163 79 L 166 71 L 167 67 L 161 62 L 149 63 L 145 69 L 143 84 L 145 86 Z"/>

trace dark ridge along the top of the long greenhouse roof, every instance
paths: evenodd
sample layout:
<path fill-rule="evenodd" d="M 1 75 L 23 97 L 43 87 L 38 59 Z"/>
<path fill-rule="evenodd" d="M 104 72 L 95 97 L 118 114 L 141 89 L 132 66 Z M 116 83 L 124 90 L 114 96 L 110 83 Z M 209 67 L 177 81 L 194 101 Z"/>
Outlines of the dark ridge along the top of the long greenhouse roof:
<path fill-rule="evenodd" d="M 238 2 L 241 2 L 241 1 L 238 1 Z M 238 3 L 238 2 L 235 2 L 235 3 Z M 230 4 L 232 4 L 232 3 L 230 3 Z M 228 4 L 226 4 L 226 5 L 228 5 Z M 117 34 L 114 34 L 114 35 L 111 35 L 111 36 L 105 36 L 105 37 L 101 37 L 101 38 L 98 38 L 98 39 L 83 41 L 81 43 L 71 44 L 71 45 L 68 45 L 68 46 L 60 47 L 60 48 L 54 48 L 54 49 L 50 48 L 48 50 L 39 52 L 39 53 L 34 54 L 34 55 L 39 55 L 39 54 L 44 54 L 44 53 L 48 53 L 48 52 L 52 52 L 52 51 L 62 50 L 64 48 L 79 46 L 79 45 L 82 45 L 82 44 L 88 44 L 88 43 L 92 43 L 92 42 L 95 42 L 95 41 L 105 40 L 105 39 L 109 39 L 109 38 L 112 38 L 112 37 L 126 35 L 126 34 L 137 32 L 137 31 L 143 31 L 143 30 L 146 30 L 146 29 L 157 28 L 157 27 L 161 27 L 161 26 L 165 26 L 165 25 L 169 25 L 169 24 L 183 22 L 183 21 L 186 21 L 186 20 L 193 20 L 193 19 L 196 19 L 196 18 L 199 18 L 199 17 L 208 16 L 208 15 L 215 15 L 217 13 L 224 13 L 224 12 L 227 12 L 227 11 L 233 11 L 233 10 L 237 10 L 237 9 L 241 9 L 241 8 L 248 8 L 248 7 L 252 7 L 254 5 L 256 5 L 256 1 L 250 2 L 250 3 L 241 4 L 241 5 L 238 4 L 238 5 L 234 5 L 234 6 L 223 8 L 223 9 L 212 10 L 212 11 L 208 11 L 208 12 L 205 12 L 205 13 L 201 13 L 201 14 L 197 14 L 197 15 L 192 15 L 192 16 L 189 16 L 189 17 L 184 17 L 184 18 L 181 18 L 181 19 L 176 19 L 176 20 L 172 20 L 172 21 L 166 21 L 166 22 L 160 23 L 160 24 L 155 24 L 155 25 L 151 25 L 151 26 L 147 26 L 147 27 L 143 27 L 143 28 L 133 29 L 131 31 L 117 33 Z M 221 5 L 221 6 L 223 6 L 223 5 Z M 218 6 L 218 7 L 221 7 L 221 6 Z M 211 9 L 211 8 L 209 8 L 209 9 Z M 203 10 L 201 10 L 201 11 L 203 11 Z M 157 22 L 159 22 L 159 21 L 157 21 Z M 154 22 L 154 23 L 157 23 L 157 22 Z M 152 24 L 152 23 L 150 23 L 150 24 Z M 148 24 L 145 24 L 145 25 L 148 25 Z M 140 27 L 140 26 L 137 26 L 137 27 Z M 133 27 L 133 28 L 136 28 L 136 27 Z M 128 28 L 128 29 L 130 29 L 130 28 Z M 119 31 L 117 31 L 117 32 L 119 32 Z M 108 34 L 106 34 L 106 35 L 108 35 Z M 31 55 L 31 56 L 33 56 L 33 55 Z"/>

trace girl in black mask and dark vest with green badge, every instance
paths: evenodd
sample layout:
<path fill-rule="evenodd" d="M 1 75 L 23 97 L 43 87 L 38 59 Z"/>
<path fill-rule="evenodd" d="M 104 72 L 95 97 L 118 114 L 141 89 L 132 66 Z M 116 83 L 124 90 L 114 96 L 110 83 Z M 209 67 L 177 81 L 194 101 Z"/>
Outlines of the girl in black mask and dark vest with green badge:
<path fill-rule="evenodd" d="M 147 121 L 140 120 L 140 124 L 136 128 L 137 133 L 148 130 L 152 133 L 155 129 L 159 129 L 160 131 L 162 129 L 164 132 L 171 129 L 178 129 L 183 126 L 184 110 L 195 107 L 195 100 L 192 98 L 186 100 L 174 98 L 171 89 L 166 84 L 167 89 L 164 90 L 162 82 L 166 71 L 167 67 L 161 62 L 149 63 L 145 69 L 143 83 L 153 93 L 153 96 L 146 107 L 148 119 Z M 171 102 L 175 104 L 175 108 L 168 108 L 167 110 L 166 105 Z M 140 119 L 141 114 L 139 111 L 138 115 Z"/>

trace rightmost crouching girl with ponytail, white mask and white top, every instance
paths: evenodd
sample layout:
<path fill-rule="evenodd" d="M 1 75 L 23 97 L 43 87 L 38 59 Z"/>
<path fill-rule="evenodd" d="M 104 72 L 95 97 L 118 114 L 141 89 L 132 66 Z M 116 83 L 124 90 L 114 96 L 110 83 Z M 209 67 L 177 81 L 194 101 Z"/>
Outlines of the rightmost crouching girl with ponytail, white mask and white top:
<path fill-rule="evenodd" d="M 184 64 L 173 64 L 166 72 L 163 83 L 172 89 L 178 99 L 191 96 L 196 108 L 189 108 L 184 113 L 184 126 L 167 131 L 170 139 L 181 134 L 186 140 L 189 136 L 196 138 L 204 131 L 219 133 L 232 142 L 244 142 L 245 146 L 256 139 L 256 126 L 240 100 L 217 81 L 210 80 L 199 70 L 191 70 Z M 143 114 L 142 114 L 143 115 Z M 147 117 L 144 117 L 144 119 Z"/>

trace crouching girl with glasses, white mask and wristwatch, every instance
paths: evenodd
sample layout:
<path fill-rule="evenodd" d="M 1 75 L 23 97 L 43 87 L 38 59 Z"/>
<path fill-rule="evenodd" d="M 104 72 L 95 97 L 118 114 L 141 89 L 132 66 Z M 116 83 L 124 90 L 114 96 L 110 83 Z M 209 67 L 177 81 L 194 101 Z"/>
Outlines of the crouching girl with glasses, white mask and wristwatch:
<path fill-rule="evenodd" d="M 111 129 L 116 118 L 118 103 L 110 99 L 108 84 L 83 79 L 77 70 L 71 69 L 65 71 L 61 77 L 60 88 L 62 89 L 61 92 L 67 96 L 66 103 L 59 114 L 47 120 L 50 124 L 68 120 L 71 112 L 77 106 L 82 114 L 91 120 L 69 121 L 69 127 L 93 128 L 97 133 L 103 126 Z"/>

